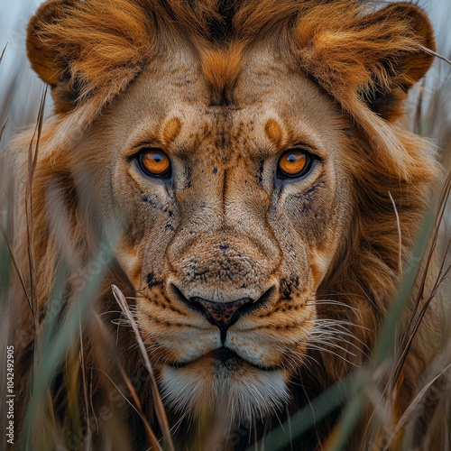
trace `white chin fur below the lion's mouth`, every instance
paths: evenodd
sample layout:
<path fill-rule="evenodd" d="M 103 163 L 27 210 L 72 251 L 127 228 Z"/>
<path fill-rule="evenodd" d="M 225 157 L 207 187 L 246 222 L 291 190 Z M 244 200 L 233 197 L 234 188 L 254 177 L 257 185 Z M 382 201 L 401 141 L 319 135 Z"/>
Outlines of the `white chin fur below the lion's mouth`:
<path fill-rule="evenodd" d="M 199 417 L 211 412 L 230 423 L 262 419 L 289 400 L 283 371 L 245 363 L 164 365 L 160 386 L 164 403 L 176 413 Z"/>

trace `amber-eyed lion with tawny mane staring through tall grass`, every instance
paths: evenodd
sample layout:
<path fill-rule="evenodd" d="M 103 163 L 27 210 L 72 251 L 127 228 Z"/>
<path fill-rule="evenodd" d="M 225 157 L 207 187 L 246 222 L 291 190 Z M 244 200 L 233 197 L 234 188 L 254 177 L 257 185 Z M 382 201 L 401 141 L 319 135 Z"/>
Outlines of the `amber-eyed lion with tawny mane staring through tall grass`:
<path fill-rule="evenodd" d="M 23 430 L 49 324 L 84 313 L 43 389 L 60 435 L 42 438 L 44 422 L 28 443 L 147 448 L 148 426 L 164 435 L 161 395 L 176 449 L 212 424 L 243 449 L 368 364 L 439 173 L 403 126 L 434 50 L 405 2 L 43 3 L 27 51 L 54 114 L 2 162 Z M 400 414 L 433 358 L 433 318 L 396 386 Z M 291 446 L 325 446 L 341 411 Z"/>

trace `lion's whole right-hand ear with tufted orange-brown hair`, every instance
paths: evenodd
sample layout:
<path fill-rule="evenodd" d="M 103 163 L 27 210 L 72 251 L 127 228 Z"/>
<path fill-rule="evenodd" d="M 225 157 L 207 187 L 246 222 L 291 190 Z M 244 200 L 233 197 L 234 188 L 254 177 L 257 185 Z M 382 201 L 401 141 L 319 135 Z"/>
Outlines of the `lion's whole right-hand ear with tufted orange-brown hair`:
<path fill-rule="evenodd" d="M 387 121 L 402 114 L 409 88 L 432 64 L 427 50 L 435 51 L 427 14 L 407 2 L 370 14 L 343 1 L 320 5 L 299 19 L 297 37 L 302 66 L 329 94 L 348 106 L 353 92 Z"/>

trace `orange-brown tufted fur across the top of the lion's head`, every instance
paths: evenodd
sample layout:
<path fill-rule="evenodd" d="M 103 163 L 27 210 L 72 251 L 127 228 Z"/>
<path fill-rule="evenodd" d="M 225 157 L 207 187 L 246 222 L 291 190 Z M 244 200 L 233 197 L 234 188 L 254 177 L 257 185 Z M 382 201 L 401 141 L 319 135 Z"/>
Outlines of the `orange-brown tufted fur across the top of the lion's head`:
<path fill-rule="evenodd" d="M 364 91 L 387 83 L 392 68 L 381 63 L 385 56 L 399 59 L 419 51 L 418 30 L 413 21 L 402 20 L 405 11 L 392 8 L 390 20 L 377 20 L 377 13 L 367 14 L 369 5 L 361 0 L 52 0 L 29 26 L 29 57 L 51 85 L 69 77 L 79 87 L 78 97 L 102 90 L 107 100 L 157 55 L 187 41 L 207 81 L 220 92 L 239 75 L 244 48 L 271 37 L 284 58 L 294 58 L 299 69 L 339 97 L 341 89 Z M 49 60 L 50 67 L 43 68 Z"/>

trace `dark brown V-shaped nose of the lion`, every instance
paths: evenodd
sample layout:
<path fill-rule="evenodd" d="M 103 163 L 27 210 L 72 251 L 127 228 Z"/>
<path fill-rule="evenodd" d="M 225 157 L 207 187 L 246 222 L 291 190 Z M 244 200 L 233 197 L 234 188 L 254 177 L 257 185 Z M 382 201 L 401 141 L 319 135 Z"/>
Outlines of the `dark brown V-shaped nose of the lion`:
<path fill-rule="evenodd" d="M 231 302 L 218 302 L 197 296 L 187 299 L 175 285 L 171 285 L 171 290 L 180 300 L 188 304 L 189 307 L 198 310 L 207 318 L 209 323 L 219 328 L 223 342 L 226 340 L 227 329 L 235 324 L 241 315 L 254 308 L 261 307 L 262 304 L 272 297 L 272 293 L 275 290 L 274 287 L 270 288 L 259 299 L 243 298 Z"/>

